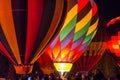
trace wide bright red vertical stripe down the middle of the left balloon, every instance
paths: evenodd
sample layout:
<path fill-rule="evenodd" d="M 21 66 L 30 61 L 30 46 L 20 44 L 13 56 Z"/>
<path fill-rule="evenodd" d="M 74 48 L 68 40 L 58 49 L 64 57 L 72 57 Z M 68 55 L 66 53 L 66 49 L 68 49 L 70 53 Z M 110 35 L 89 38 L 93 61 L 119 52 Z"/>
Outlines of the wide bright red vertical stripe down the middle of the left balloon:
<path fill-rule="evenodd" d="M 25 64 L 28 63 L 37 34 L 43 11 L 43 0 L 28 0 L 28 26 L 26 39 Z"/>

